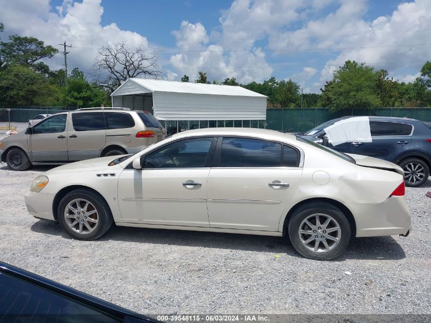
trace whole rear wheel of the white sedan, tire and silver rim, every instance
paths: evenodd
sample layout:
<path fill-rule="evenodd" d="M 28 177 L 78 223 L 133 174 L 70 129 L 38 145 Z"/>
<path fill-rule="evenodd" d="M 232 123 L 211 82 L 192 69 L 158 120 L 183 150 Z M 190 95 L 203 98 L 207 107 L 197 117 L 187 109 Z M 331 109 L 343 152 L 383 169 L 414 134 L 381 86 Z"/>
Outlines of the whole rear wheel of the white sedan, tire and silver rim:
<path fill-rule="evenodd" d="M 350 225 L 340 209 L 325 202 L 300 207 L 288 222 L 290 241 L 304 257 L 329 260 L 340 256 L 350 241 Z"/>

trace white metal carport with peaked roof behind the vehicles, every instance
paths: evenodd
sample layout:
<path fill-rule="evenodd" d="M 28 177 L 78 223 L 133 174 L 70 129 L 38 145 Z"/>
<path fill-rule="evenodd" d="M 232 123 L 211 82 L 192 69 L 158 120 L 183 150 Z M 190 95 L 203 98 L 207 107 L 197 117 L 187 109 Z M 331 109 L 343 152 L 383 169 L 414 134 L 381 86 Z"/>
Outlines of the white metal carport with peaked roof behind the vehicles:
<path fill-rule="evenodd" d="M 267 96 L 240 86 L 130 78 L 111 94 L 112 104 L 119 107 L 122 96 L 145 93 L 152 93 L 159 120 L 266 119 Z"/>

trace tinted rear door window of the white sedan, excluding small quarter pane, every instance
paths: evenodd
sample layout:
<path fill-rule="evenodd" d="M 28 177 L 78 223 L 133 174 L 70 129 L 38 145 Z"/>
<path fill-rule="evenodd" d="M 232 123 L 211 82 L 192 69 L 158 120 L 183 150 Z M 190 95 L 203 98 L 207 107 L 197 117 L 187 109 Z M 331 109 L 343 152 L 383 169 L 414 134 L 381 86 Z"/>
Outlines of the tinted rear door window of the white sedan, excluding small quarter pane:
<path fill-rule="evenodd" d="M 248 138 L 223 138 L 220 167 L 278 167 L 280 143 Z"/>

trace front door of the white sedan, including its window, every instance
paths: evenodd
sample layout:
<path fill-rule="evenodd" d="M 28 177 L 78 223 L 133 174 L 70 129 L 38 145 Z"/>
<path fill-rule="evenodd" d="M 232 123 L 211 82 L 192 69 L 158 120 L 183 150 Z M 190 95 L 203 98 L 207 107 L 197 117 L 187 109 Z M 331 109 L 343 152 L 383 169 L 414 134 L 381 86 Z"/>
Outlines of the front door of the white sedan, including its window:
<path fill-rule="evenodd" d="M 207 180 L 214 146 L 212 137 L 174 141 L 144 155 L 141 170 L 124 169 L 118 180 L 123 221 L 209 227 Z"/>

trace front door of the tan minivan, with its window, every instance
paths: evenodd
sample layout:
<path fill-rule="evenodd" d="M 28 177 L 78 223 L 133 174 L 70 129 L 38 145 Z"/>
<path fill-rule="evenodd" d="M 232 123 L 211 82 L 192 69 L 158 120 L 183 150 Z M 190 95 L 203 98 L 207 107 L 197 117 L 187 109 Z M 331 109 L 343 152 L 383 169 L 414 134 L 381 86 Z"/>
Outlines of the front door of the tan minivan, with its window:
<path fill-rule="evenodd" d="M 67 114 L 57 114 L 40 121 L 32 128 L 28 145 L 34 162 L 67 161 Z"/>

